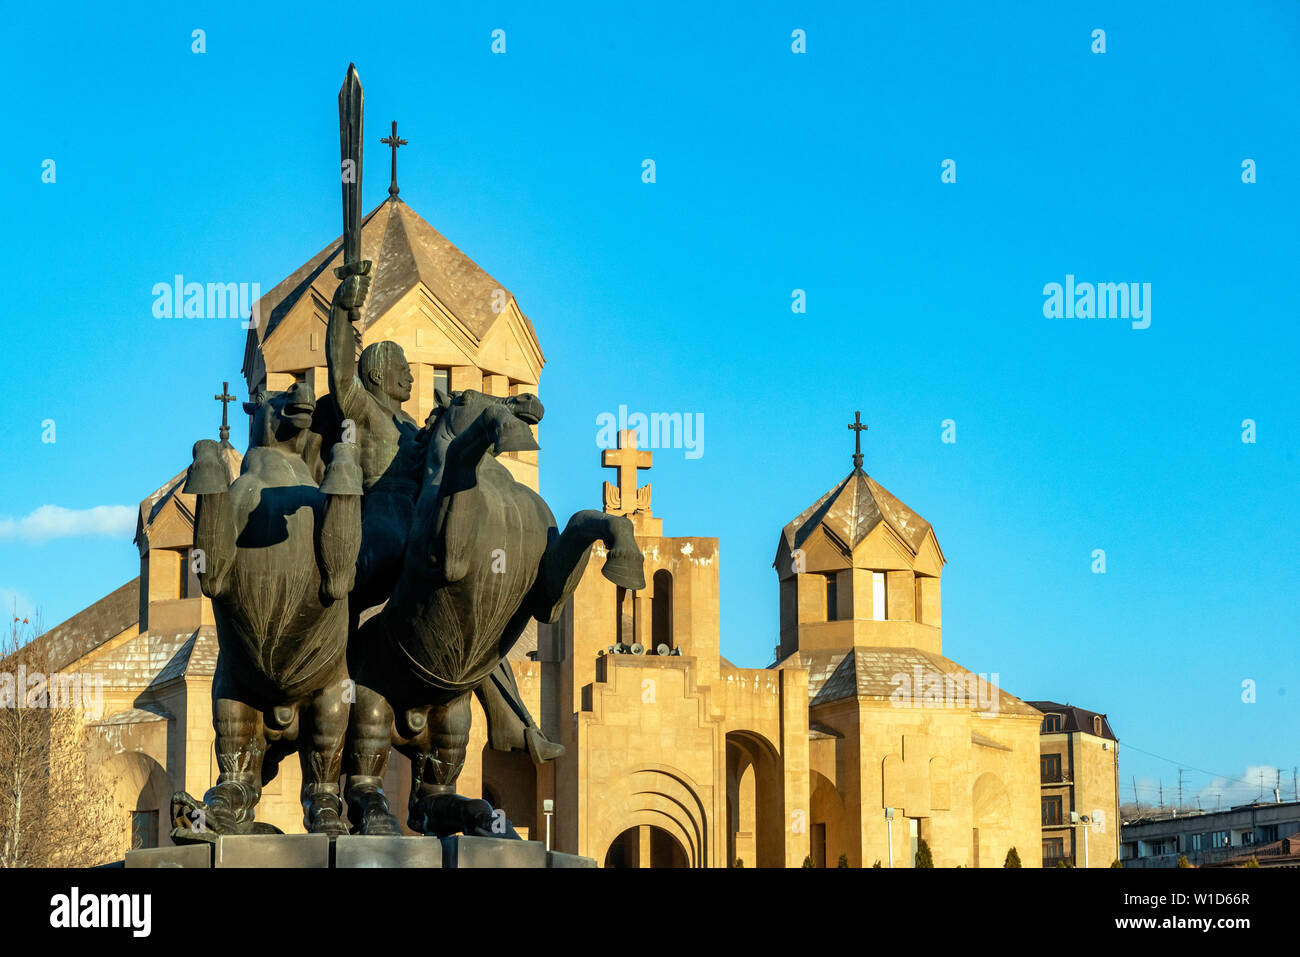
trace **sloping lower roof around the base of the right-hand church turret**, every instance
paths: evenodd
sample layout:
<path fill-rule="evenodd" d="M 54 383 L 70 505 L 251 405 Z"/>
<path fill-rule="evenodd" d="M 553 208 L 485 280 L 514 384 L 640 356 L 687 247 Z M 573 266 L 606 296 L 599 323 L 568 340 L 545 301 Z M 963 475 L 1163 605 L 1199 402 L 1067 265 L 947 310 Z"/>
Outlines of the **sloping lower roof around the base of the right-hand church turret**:
<path fill-rule="evenodd" d="M 942 684 L 946 677 L 945 688 L 959 687 L 963 693 L 975 693 L 985 700 L 996 693 L 998 714 L 1037 716 L 1034 707 L 993 684 L 972 692 L 971 681 L 976 680 L 978 675 L 941 654 L 914 648 L 796 651 L 785 661 L 790 663 L 798 661 L 807 668 L 810 707 L 846 698 L 894 700 L 905 702 L 904 706 L 930 706 L 926 703 L 930 683 L 937 680 Z M 971 710 L 979 710 L 978 700 L 971 702 Z"/>

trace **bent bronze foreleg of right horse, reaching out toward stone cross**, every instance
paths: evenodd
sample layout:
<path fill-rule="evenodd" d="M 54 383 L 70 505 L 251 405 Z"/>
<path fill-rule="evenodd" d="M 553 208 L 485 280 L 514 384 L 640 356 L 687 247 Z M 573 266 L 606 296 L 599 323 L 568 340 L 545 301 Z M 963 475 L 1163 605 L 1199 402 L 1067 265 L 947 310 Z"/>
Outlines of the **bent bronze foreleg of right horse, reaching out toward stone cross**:
<path fill-rule="evenodd" d="M 645 557 L 637 546 L 636 529 L 623 515 L 586 508 L 575 512 L 564 531 L 554 537 L 542 554 L 534 592 L 534 615 L 554 623 L 572 597 L 586 571 L 592 546 L 603 542 L 607 550 L 601 573 L 629 590 L 646 586 Z"/>

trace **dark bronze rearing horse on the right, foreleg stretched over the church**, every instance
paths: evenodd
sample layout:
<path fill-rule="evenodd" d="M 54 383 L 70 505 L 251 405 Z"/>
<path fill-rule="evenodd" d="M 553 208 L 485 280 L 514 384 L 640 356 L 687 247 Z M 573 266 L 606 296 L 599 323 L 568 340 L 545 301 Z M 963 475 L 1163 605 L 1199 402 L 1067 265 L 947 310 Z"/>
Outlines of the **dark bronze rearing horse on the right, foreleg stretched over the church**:
<path fill-rule="evenodd" d="M 497 462 L 536 450 L 536 395 L 439 395 L 404 560 L 387 605 L 350 642 L 356 701 L 348 726 L 348 817 L 368 835 L 400 832 L 382 789 L 390 748 L 411 759 L 407 826 L 490 835 L 493 809 L 456 793 L 469 696 L 497 671 L 530 618 L 555 622 L 586 568 L 645 588 L 632 523 L 580 511 L 559 532 L 541 495 Z M 508 667 L 508 666 L 507 666 Z"/>

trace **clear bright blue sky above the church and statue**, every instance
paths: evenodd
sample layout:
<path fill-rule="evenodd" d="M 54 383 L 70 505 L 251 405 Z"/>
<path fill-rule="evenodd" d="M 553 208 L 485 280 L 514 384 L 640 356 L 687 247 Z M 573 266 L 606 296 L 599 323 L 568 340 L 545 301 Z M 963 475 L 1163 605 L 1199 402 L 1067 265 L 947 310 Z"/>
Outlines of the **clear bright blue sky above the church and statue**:
<path fill-rule="evenodd" d="M 265 290 L 338 234 L 351 60 L 367 209 L 396 118 L 402 198 L 538 330 L 555 514 L 599 505 L 601 412 L 703 416 L 649 477 L 667 534 L 722 540 L 728 658 L 771 659 L 777 534 L 862 410 L 867 471 L 948 558 L 949 657 L 1108 713 L 1124 800 L 1169 796 L 1150 755 L 1202 804 L 1261 767 L 1290 791 L 1300 8 L 1131 7 L 12 12 L 0 598 L 48 625 L 136 573 L 131 532 L 22 520 L 134 507 L 214 432 L 238 321 L 155 319 L 151 289 Z M 1066 274 L 1149 282 L 1150 326 L 1045 317 Z"/>

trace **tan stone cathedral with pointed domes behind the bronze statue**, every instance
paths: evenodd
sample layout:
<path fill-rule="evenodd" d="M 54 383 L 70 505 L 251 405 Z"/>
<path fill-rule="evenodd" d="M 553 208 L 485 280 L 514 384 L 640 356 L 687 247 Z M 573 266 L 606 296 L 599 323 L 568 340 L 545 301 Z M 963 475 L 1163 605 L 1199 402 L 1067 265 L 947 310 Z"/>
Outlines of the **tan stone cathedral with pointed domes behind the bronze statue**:
<path fill-rule="evenodd" d="M 361 244 L 374 278 L 360 346 L 402 345 L 416 423 L 434 389 L 545 400 L 537 330 L 482 268 L 395 195 L 365 218 Z M 295 380 L 328 391 L 339 256 L 335 241 L 261 299 L 247 393 Z M 848 475 L 809 476 L 807 508 L 772 528 L 777 661 L 738 667 L 719 650 L 718 538 L 673 528 L 672 516 L 666 533 L 638 482 L 653 454 L 636 432 L 618 445 L 593 456 L 593 473 L 615 472 L 588 506 L 630 518 L 646 588 L 602 577 L 597 546 L 558 624 L 532 627 L 510 655 L 529 711 L 564 753 L 538 763 L 493 749 L 476 701 L 460 792 L 503 809 L 521 835 L 611 867 L 909 867 L 922 840 L 940 867 L 1001 866 L 1011 846 L 1036 866 L 1043 716 L 944 657 L 935 529 L 861 455 Z M 237 475 L 239 452 L 226 455 Z M 537 452 L 502 460 L 537 488 Z M 216 776 L 217 640 L 188 571 L 183 481 L 182 468 L 140 502 L 139 576 L 39 638 L 61 670 L 104 683 L 91 731 L 124 850 L 169 841 L 172 793 L 202 794 Z M 404 759 L 389 778 L 396 810 Z M 300 832 L 298 788 L 286 761 L 259 820 Z"/>

